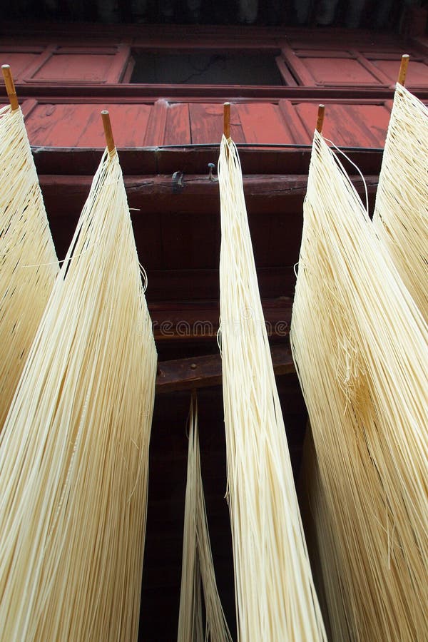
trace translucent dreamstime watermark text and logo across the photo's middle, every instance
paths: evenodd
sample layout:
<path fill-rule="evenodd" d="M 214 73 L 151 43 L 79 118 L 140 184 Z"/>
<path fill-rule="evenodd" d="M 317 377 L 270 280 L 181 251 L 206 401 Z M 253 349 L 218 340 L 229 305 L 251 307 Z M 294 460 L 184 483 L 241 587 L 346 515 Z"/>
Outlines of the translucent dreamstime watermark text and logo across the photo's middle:
<path fill-rule="evenodd" d="M 248 307 L 243 309 L 240 318 L 222 320 L 220 324 L 221 332 L 228 332 L 234 337 L 242 335 L 244 330 L 253 334 L 263 332 L 263 328 L 265 328 L 267 337 L 285 337 L 289 331 L 287 321 L 260 320 L 253 310 Z M 162 337 L 215 337 L 218 332 L 218 323 L 208 319 L 194 321 L 163 319 L 162 321 L 152 321 L 152 329 L 153 334 L 161 335 Z"/>

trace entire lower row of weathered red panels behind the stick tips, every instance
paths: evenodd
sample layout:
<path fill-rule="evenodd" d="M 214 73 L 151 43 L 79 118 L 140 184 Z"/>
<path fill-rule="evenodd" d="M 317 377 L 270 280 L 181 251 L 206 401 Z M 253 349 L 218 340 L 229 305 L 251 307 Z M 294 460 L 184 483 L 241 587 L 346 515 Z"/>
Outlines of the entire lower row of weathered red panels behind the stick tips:
<path fill-rule="evenodd" d="M 383 147 L 389 103 L 326 102 L 324 133 L 342 146 Z M 27 107 L 27 108 L 26 108 Z M 46 147 L 103 147 L 100 112 L 111 113 L 118 147 L 220 142 L 221 103 L 58 103 L 25 101 L 31 144 Z M 231 135 L 236 143 L 309 144 L 317 102 L 237 103 L 231 108 Z M 179 168 L 178 168 L 179 169 Z"/>

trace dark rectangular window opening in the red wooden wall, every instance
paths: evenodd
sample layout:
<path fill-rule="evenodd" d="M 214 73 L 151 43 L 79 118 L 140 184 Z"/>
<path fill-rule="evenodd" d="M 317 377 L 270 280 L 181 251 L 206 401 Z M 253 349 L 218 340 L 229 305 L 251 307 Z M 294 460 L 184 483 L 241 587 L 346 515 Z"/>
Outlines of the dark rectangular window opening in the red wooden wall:
<path fill-rule="evenodd" d="M 282 85 L 275 54 L 134 54 L 131 83 Z"/>

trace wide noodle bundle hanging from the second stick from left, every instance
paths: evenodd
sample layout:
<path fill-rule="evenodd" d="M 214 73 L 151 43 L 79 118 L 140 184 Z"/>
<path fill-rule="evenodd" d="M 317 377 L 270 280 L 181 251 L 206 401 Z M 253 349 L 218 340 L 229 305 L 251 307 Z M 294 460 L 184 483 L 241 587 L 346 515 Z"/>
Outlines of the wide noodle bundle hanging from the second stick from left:
<path fill-rule="evenodd" d="M 156 350 L 104 154 L 0 443 L 1 641 L 136 640 Z"/>

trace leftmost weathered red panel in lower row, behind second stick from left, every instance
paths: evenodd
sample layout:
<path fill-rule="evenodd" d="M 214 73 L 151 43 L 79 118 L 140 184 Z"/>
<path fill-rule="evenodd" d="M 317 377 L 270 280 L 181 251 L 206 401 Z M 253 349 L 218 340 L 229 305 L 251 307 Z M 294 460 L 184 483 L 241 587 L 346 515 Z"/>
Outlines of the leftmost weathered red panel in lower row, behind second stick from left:
<path fill-rule="evenodd" d="M 151 108 L 126 104 L 39 104 L 26 119 L 26 127 L 32 145 L 104 147 L 100 112 L 108 109 L 116 145 L 142 147 Z"/>

